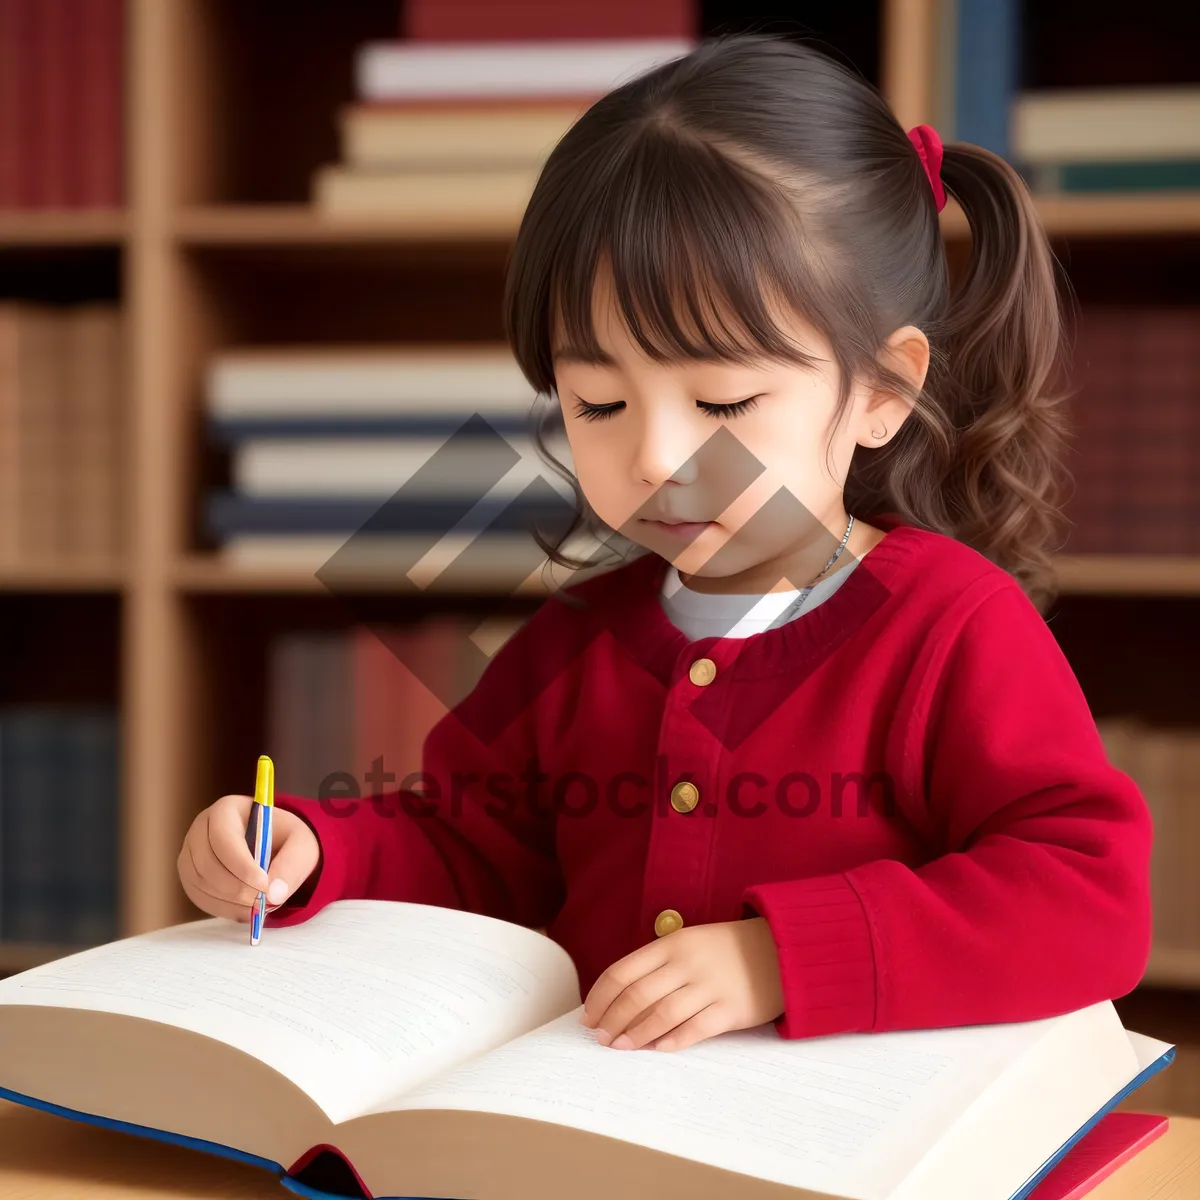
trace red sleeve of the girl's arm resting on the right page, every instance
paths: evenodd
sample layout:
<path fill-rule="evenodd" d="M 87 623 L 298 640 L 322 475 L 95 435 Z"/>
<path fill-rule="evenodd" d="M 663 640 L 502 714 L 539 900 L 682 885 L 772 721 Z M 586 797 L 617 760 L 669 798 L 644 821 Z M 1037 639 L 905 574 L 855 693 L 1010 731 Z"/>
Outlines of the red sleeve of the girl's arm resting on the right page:
<path fill-rule="evenodd" d="M 1034 1020 L 1145 971 L 1150 814 L 1045 620 L 1003 586 L 935 653 L 907 744 L 944 852 L 743 894 L 779 952 L 782 1037 Z"/>

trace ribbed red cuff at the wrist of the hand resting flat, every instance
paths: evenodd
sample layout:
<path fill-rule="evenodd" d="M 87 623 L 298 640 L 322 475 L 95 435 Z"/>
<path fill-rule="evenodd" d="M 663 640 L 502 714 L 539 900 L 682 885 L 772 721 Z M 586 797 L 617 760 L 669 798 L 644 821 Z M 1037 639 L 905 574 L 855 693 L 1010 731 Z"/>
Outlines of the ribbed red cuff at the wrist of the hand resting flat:
<path fill-rule="evenodd" d="M 758 883 L 743 916 L 763 917 L 779 955 L 784 1038 L 869 1032 L 875 1025 L 875 949 L 866 913 L 845 875 Z"/>

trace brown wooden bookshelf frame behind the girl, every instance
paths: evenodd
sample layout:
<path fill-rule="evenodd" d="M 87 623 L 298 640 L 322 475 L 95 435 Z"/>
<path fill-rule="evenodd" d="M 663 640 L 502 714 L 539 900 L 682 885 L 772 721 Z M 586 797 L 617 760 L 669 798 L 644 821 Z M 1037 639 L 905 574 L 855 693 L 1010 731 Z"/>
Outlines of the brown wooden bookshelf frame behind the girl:
<path fill-rule="evenodd" d="M 934 0 L 880 6 L 880 78 L 905 126 L 932 112 L 934 8 Z M 82 263 L 98 248 L 120 260 L 130 550 L 121 564 L 0 571 L 0 601 L 49 593 L 59 605 L 119 607 L 122 930 L 137 934 L 196 916 L 175 872 L 184 833 L 222 790 L 252 784 L 252 761 L 244 776 L 223 767 L 235 757 L 228 744 L 241 744 L 230 722 L 244 707 L 227 713 L 224 703 L 238 690 L 239 655 L 293 618 L 334 619 L 311 572 L 233 570 L 196 534 L 208 355 L 281 340 L 498 336 L 503 262 L 517 215 L 497 211 L 462 227 L 436 212 L 406 222 L 334 221 L 307 205 L 312 170 L 337 157 L 334 114 L 350 98 L 353 49 L 394 35 L 396 0 L 128 0 L 128 22 L 127 210 L 0 214 L 0 254 L 44 251 L 55 262 L 78 254 Z M 283 73 L 305 86 L 284 89 L 281 100 Z M 1109 239 L 1150 245 L 1200 234 L 1200 193 L 1038 204 L 1048 230 L 1067 244 L 1103 250 Z M 942 221 L 948 239 L 966 236 L 953 203 Z M 408 274 L 388 283 L 380 263 Z M 382 289 L 382 306 L 356 296 L 366 271 Z M 1058 566 L 1069 606 L 1200 600 L 1200 558 L 1086 556 Z M 380 584 L 365 576 L 356 586 Z M 530 590 L 530 602 L 534 596 Z M 1190 614 L 1176 618 L 1181 629 L 1184 620 L 1198 624 L 1198 610 L 1181 611 Z M 1195 648 L 1192 636 L 1187 646 Z M 1103 658 L 1108 647 L 1094 653 Z M 260 725 L 262 715 L 256 719 Z M 0 970 L 60 950 L 0 944 Z M 1200 948 L 1156 958 L 1147 979 L 1200 990 Z"/>

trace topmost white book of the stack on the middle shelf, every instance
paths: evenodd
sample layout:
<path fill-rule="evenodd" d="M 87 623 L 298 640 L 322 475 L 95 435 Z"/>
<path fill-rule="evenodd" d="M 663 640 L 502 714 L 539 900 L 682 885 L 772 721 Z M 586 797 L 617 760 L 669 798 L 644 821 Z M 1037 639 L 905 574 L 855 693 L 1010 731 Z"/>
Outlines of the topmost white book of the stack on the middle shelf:
<path fill-rule="evenodd" d="M 209 361 L 214 416 L 528 414 L 535 394 L 503 344 L 226 350 Z"/>

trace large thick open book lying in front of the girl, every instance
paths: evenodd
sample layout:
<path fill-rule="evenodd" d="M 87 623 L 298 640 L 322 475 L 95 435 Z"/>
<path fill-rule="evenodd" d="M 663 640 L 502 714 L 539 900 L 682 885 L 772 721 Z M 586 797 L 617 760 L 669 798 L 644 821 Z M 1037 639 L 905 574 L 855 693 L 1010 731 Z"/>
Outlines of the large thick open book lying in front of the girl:
<path fill-rule="evenodd" d="M 566 953 L 427 905 L 211 918 L 0 980 L 0 1094 L 368 1195 L 1010 1200 L 1174 1048 L 1064 1016 L 684 1050 L 580 1025 Z"/>

